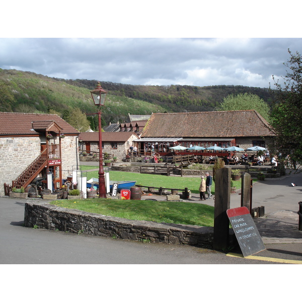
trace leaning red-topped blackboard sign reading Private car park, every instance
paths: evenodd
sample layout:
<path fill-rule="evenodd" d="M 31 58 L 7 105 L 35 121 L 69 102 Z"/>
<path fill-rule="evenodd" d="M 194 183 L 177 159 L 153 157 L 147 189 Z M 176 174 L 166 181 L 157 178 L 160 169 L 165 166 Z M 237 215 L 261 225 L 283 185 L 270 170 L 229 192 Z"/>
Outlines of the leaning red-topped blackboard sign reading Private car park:
<path fill-rule="evenodd" d="M 247 207 L 226 210 L 244 257 L 264 251 L 265 246 Z"/>

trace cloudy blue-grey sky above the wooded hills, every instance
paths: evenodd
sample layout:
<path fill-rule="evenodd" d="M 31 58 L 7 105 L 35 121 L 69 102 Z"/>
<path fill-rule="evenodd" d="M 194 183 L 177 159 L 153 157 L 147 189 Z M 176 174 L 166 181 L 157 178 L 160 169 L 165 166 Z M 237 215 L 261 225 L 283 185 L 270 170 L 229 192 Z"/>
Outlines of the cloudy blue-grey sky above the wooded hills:
<path fill-rule="evenodd" d="M 133 85 L 268 87 L 300 38 L 0 38 L 0 67 Z"/>

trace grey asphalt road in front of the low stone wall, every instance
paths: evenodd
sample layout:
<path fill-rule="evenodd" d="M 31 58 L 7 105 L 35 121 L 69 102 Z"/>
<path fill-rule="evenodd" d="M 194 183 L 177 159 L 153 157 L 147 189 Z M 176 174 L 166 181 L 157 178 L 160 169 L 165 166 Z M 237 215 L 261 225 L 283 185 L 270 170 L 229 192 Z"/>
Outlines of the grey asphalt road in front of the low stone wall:
<path fill-rule="evenodd" d="M 153 244 L 31 229 L 24 200 L 0 198 L 1 264 L 272 264 L 191 246 Z M 257 256 L 302 261 L 302 244 L 266 245 Z"/>

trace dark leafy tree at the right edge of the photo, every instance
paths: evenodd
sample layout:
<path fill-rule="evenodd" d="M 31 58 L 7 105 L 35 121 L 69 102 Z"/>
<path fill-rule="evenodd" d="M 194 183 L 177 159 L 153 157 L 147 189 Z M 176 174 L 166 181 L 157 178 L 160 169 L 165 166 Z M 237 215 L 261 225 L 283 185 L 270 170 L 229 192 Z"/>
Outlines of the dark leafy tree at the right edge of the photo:
<path fill-rule="evenodd" d="M 302 57 L 291 53 L 287 63 L 283 63 L 290 70 L 286 71 L 284 85 L 275 82 L 276 89 L 271 114 L 271 125 L 276 132 L 274 149 L 290 152 L 294 161 L 302 160 Z"/>

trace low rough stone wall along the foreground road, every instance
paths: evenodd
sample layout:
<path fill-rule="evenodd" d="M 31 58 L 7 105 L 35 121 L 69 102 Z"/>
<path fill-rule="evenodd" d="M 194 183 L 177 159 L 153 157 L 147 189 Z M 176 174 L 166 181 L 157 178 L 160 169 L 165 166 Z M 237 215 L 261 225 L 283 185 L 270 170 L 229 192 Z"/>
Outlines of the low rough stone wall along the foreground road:
<path fill-rule="evenodd" d="M 41 229 L 155 243 L 212 246 L 213 242 L 213 228 L 206 226 L 129 220 L 38 201 L 25 203 L 24 225 L 28 228 L 38 225 Z M 230 235 L 230 244 L 234 244 L 232 229 Z"/>

